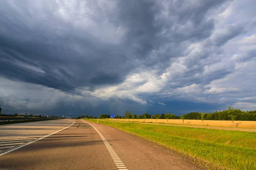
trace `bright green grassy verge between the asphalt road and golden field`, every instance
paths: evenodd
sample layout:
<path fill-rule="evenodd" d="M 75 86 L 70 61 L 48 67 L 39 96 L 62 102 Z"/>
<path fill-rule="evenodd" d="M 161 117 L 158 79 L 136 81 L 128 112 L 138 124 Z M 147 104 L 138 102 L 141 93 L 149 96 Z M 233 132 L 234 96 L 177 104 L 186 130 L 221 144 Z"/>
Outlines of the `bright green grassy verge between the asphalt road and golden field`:
<path fill-rule="evenodd" d="M 91 122 L 96 120 L 88 119 Z M 101 121 L 172 150 L 238 170 L 256 169 L 256 133 Z"/>

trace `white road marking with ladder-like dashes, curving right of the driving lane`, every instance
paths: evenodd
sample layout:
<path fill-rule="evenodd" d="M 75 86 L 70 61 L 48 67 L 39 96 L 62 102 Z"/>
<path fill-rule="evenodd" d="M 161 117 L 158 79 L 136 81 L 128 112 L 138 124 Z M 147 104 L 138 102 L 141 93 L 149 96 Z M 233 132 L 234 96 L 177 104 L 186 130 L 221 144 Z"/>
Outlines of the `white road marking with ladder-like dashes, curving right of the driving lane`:
<path fill-rule="evenodd" d="M 84 121 L 83 121 L 84 122 Z M 87 123 L 87 122 L 86 122 Z M 91 125 L 90 123 L 88 123 L 89 125 Z M 112 157 L 114 163 L 116 164 L 116 167 L 118 170 L 128 170 L 126 169 L 124 163 L 122 163 L 121 159 L 119 158 L 119 156 L 116 154 L 115 150 L 113 150 L 113 148 L 111 147 L 111 145 L 108 143 L 108 141 L 105 139 L 105 137 L 99 132 L 98 129 L 96 129 L 96 127 L 94 127 L 93 125 L 91 125 L 97 133 L 99 133 L 99 136 L 101 137 L 102 141 L 104 142 L 105 146 L 108 149 L 108 152 L 110 154 L 110 156 Z"/>

